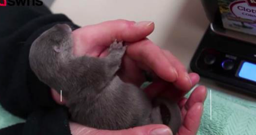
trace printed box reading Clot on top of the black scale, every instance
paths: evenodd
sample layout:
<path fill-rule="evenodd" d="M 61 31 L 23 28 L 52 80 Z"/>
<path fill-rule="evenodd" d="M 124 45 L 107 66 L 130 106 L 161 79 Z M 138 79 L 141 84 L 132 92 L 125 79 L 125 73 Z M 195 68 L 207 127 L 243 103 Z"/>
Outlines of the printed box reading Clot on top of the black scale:
<path fill-rule="evenodd" d="M 256 35 L 256 0 L 218 0 L 226 29 Z"/>

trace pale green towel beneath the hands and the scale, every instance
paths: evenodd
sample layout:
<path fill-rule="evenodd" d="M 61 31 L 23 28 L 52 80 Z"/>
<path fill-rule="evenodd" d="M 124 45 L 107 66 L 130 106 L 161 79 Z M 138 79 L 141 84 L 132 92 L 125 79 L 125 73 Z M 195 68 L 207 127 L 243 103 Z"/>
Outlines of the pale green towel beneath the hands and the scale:
<path fill-rule="evenodd" d="M 210 119 L 210 90 L 212 91 L 212 120 Z M 186 96 L 188 95 L 189 93 Z M 0 128 L 24 121 L 0 106 Z M 256 135 L 256 102 L 208 88 L 198 135 L 229 134 Z"/>

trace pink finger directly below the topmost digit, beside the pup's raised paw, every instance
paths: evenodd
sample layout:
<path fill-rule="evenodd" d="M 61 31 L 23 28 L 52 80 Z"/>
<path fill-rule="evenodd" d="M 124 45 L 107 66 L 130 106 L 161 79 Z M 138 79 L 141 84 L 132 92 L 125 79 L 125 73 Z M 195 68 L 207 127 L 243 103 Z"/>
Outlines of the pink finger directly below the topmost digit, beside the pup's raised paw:
<path fill-rule="evenodd" d="M 176 69 L 162 50 L 148 39 L 129 45 L 126 54 L 133 60 L 147 65 L 165 81 L 174 82 L 178 77 Z"/>

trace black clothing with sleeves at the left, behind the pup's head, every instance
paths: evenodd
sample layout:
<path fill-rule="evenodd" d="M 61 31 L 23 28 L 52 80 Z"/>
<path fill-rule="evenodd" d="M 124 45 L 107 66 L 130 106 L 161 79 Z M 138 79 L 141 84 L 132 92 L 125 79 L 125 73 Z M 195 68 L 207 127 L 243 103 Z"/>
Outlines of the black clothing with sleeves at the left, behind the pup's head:
<path fill-rule="evenodd" d="M 54 15 L 44 6 L 0 7 L 0 103 L 26 119 L 0 129 L 1 135 L 71 134 L 67 108 L 53 101 L 50 88 L 29 66 L 31 44 L 55 24 L 79 28 L 65 15 Z"/>

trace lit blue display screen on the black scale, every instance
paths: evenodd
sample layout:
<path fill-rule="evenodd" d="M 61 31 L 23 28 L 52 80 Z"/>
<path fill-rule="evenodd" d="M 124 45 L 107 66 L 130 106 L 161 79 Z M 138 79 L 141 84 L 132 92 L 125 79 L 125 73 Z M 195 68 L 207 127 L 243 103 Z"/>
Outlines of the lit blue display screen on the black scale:
<path fill-rule="evenodd" d="M 243 62 L 238 76 L 256 82 L 256 64 Z"/>

